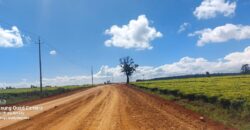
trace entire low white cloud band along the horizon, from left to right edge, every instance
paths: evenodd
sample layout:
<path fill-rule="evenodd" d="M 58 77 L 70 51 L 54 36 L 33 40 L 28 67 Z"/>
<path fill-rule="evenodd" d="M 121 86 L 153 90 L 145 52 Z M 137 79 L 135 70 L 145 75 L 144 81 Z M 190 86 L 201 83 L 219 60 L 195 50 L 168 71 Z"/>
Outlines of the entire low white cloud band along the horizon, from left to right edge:
<path fill-rule="evenodd" d="M 178 76 L 187 74 L 204 74 L 206 71 L 210 73 L 237 73 L 240 72 L 243 64 L 250 64 L 250 46 L 241 52 L 233 52 L 215 61 L 209 61 L 205 58 L 183 57 L 177 62 L 164 64 L 158 67 L 140 66 L 135 74 L 131 77 L 132 81 L 136 79 L 157 78 Z M 102 66 L 98 72 L 94 74 L 95 83 L 103 83 L 107 80 L 114 82 L 124 82 L 125 76 L 121 73 L 120 66 L 109 67 Z M 45 85 L 80 85 L 90 84 L 90 75 L 81 76 L 59 76 L 55 78 L 44 78 Z M 0 87 L 16 86 L 29 87 L 31 84 L 39 85 L 39 82 L 21 81 L 20 83 L 0 83 Z"/>

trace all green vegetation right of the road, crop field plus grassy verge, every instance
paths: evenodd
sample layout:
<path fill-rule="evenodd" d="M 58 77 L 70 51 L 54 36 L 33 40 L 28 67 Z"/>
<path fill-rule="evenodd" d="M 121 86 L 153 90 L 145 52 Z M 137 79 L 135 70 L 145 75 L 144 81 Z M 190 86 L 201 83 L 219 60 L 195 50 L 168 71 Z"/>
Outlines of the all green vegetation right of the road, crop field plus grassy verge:
<path fill-rule="evenodd" d="M 239 129 L 250 129 L 250 75 L 134 82 L 148 92 Z"/>

